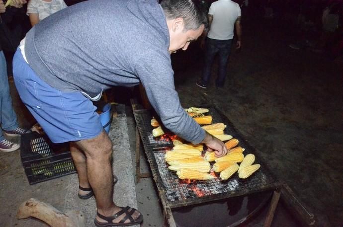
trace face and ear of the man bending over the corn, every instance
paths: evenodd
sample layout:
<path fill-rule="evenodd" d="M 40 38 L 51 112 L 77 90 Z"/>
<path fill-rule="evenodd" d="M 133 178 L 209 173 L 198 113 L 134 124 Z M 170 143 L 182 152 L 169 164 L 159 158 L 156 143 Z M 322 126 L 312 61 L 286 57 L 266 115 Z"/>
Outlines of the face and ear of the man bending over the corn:
<path fill-rule="evenodd" d="M 169 34 L 170 34 L 170 45 L 169 45 L 169 52 L 175 53 L 177 50 L 187 50 L 188 45 L 190 42 L 195 41 L 204 31 L 204 25 L 202 24 L 196 30 L 183 30 L 183 20 L 175 20 L 171 22 L 171 26 L 169 26 Z"/>

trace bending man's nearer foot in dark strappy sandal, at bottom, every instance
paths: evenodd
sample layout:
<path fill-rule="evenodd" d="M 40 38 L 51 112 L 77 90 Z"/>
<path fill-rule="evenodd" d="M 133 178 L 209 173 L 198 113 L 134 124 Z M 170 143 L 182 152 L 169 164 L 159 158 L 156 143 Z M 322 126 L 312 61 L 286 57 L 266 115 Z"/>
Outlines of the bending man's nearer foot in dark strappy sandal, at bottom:
<path fill-rule="evenodd" d="M 116 207 L 111 216 L 96 213 L 94 224 L 96 227 L 133 226 L 143 221 L 143 215 L 131 207 Z"/>

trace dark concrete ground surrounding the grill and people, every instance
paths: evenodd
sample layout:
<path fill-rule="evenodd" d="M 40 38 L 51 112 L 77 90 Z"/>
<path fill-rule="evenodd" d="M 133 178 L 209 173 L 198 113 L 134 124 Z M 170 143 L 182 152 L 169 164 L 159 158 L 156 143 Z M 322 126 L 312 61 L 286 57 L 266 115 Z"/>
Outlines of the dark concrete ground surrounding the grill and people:
<path fill-rule="evenodd" d="M 342 227 L 342 58 L 330 61 L 322 54 L 288 48 L 297 36 L 292 27 L 283 23 L 253 18 L 244 21 L 243 29 L 243 49 L 233 50 L 222 89 L 214 87 L 216 65 L 208 89 L 195 85 L 201 75 L 203 56 L 196 45 L 172 56 L 181 103 L 184 107 L 205 103 L 220 107 L 246 140 L 261 151 L 276 176 L 315 215 L 315 226 Z M 34 120 L 18 100 L 13 84 L 11 88 L 20 124 L 32 126 Z M 130 90 L 126 93 L 127 97 L 117 101 L 127 104 L 130 146 L 134 152 L 134 120 L 128 99 L 135 94 Z M 20 198 L 42 195 L 46 190 L 53 190 L 54 196 L 47 195 L 45 202 L 63 207 L 59 198 L 66 193 L 64 178 L 22 187 L 26 179 L 18 151 L 0 153 L 0 159 L 2 223 L 14 219 Z M 148 167 L 143 165 L 142 171 L 148 171 Z M 136 193 L 138 208 L 145 218 L 143 226 L 161 227 L 161 205 L 152 179 L 141 179 Z M 265 211 L 244 226 L 261 226 Z M 300 224 L 295 224 L 280 205 L 272 226 Z"/>

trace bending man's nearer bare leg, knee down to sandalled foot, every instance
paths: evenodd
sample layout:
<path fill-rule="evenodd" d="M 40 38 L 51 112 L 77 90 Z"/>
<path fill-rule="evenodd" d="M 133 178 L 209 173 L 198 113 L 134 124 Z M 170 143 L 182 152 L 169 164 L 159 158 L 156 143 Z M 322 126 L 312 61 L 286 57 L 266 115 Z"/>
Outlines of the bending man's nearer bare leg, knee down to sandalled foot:
<path fill-rule="evenodd" d="M 121 210 L 112 199 L 113 196 L 113 175 L 112 175 L 112 142 L 105 131 L 102 131 L 97 137 L 76 142 L 82 151 L 86 154 L 86 172 L 87 179 L 93 189 L 96 207 L 98 213 L 105 217 L 111 217 Z M 136 211 L 133 219 L 137 219 L 140 213 Z M 113 223 L 125 217 L 125 214 L 113 220 Z M 96 217 L 99 222 L 105 220 Z M 126 220 L 125 223 L 130 223 Z"/>

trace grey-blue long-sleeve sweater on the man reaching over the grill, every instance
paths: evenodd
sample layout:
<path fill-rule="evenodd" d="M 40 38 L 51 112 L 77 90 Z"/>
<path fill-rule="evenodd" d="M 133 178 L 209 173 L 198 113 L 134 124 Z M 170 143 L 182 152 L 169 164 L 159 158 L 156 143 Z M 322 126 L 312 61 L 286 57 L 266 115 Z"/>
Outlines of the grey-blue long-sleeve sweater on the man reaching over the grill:
<path fill-rule="evenodd" d="M 62 91 L 94 97 L 140 82 L 166 128 L 194 144 L 205 131 L 174 87 L 166 17 L 156 0 L 88 0 L 52 14 L 26 35 L 36 74 Z"/>

